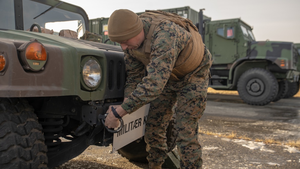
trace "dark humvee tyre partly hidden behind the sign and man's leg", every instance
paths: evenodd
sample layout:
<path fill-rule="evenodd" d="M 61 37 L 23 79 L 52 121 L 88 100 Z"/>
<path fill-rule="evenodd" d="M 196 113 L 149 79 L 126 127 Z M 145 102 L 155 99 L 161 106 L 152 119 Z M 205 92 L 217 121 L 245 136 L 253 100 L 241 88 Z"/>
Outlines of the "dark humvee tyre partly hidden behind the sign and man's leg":
<path fill-rule="evenodd" d="M 174 113 L 173 118 L 169 123 L 166 136 L 168 152 L 171 152 L 176 146 L 177 139 L 176 113 Z M 149 155 L 149 152 L 146 151 L 146 146 L 147 143 L 143 136 L 142 140 L 133 141 L 117 151 L 122 157 L 125 157 L 130 161 L 148 163 L 147 156 Z"/>

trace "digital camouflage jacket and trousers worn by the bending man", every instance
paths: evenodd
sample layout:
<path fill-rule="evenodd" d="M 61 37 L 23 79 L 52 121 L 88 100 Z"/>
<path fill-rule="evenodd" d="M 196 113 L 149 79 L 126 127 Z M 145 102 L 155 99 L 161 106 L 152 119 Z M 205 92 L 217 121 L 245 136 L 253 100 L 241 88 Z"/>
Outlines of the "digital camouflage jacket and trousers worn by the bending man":
<path fill-rule="evenodd" d="M 141 20 L 146 38 L 152 19 L 141 18 Z M 110 27 L 108 33 L 110 37 Z M 164 159 L 167 158 L 166 129 L 177 105 L 176 145 L 181 157 L 180 166 L 201 168 L 202 151 L 198 140 L 198 120 L 206 106 L 209 68 L 213 59 L 205 47 L 204 57 L 198 68 L 180 78 L 179 81 L 169 80 L 178 55 L 192 38 L 191 34 L 167 20 L 155 29 L 152 37 L 151 54 L 148 60 L 143 55 L 139 56 L 143 44 L 137 49 L 123 49 L 128 75 L 125 98 L 128 99 L 121 107 L 130 114 L 150 103 L 145 141 L 146 149 L 150 153 L 147 159 L 149 164 L 152 164 L 150 168 L 154 168 L 153 166 L 163 164 Z M 112 36 L 110 38 L 114 39 Z"/>

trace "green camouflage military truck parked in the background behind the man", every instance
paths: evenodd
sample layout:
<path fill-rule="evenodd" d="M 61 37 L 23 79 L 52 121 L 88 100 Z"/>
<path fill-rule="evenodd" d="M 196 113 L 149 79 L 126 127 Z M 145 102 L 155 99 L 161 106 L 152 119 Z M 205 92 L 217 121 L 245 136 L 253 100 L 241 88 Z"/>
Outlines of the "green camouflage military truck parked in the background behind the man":
<path fill-rule="evenodd" d="M 251 105 L 291 97 L 299 90 L 300 60 L 292 42 L 256 41 L 253 28 L 240 18 L 212 21 L 203 10 L 188 6 L 162 11 L 177 13 L 198 26 L 214 59 L 209 87 L 237 90 Z"/>

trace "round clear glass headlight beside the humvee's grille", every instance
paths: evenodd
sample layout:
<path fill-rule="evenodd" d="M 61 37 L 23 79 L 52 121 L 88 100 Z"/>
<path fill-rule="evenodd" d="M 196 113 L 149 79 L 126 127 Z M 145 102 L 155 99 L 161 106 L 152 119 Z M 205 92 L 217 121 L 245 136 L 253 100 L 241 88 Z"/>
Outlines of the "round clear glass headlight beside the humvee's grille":
<path fill-rule="evenodd" d="M 82 66 L 82 79 L 92 89 L 99 86 L 102 80 L 102 69 L 94 57 L 90 57 Z"/>

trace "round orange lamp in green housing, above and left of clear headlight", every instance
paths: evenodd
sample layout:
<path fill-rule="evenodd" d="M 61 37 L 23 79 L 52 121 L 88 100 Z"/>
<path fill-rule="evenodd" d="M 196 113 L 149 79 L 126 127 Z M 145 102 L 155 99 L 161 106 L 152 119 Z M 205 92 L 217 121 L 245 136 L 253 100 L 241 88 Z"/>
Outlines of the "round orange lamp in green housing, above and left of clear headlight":
<path fill-rule="evenodd" d="M 44 65 L 47 61 L 47 51 L 37 39 L 30 39 L 29 42 L 22 44 L 17 50 L 20 51 L 24 69 L 32 71 L 44 70 Z"/>

